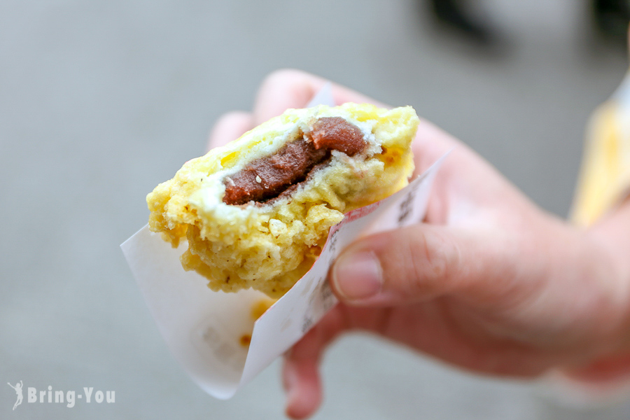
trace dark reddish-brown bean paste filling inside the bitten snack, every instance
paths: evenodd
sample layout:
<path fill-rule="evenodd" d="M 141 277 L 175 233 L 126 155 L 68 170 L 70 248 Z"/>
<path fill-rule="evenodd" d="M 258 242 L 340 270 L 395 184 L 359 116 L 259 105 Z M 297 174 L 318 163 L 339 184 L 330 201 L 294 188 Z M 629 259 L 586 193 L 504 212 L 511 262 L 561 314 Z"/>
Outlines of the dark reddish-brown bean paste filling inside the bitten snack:
<path fill-rule="evenodd" d="M 341 117 L 319 118 L 306 136 L 226 177 L 223 202 L 240 205 L 272 200 L 307 179 L 312 170 L 323 167 L 330 151 L 353 156 L 366 147 L 363 132 L 356 125 Z"/>

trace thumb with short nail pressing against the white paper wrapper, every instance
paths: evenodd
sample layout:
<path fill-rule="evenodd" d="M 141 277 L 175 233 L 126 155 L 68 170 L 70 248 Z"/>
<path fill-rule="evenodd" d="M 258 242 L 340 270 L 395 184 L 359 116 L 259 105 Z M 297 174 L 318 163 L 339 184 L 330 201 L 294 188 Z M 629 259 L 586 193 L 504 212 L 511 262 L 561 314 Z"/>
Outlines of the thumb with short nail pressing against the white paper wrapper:
<path fill-rule="evenodd" d="M 419 224 L 351 244 L 330 280 L 348 304 L 404 304 L 447 294 L 495 301 L 512 290 L 508 241 L 440 225 Z"/>

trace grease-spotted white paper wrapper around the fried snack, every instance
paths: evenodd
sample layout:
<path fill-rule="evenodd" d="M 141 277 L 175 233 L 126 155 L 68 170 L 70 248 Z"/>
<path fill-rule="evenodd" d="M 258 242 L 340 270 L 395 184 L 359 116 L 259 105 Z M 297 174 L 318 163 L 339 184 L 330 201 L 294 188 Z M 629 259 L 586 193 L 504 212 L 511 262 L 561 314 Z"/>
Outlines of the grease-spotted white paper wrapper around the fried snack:
<path fill-rule="evenodd" d="M 315 104 L 332 104 L 330 85 L 309 106 Z M 386 200 L 346 214 L 331 228 L 311 270 L 258 320 L 252 310 L 266 296 L 255 290 L 213 292 L 204 277 L 181 267 L 186 243 L 172 248 L 147 226 L 127 239 L 121 245 L 127 262 L 169 349 L 190 377 L 210 395 L 227 399 L 287 351 L 337 303 L 326 275 L 346 245 L 368 229 L 421 221 L 444 157 Z M 250 335 L 244 345 L 241 339 Z"/>

